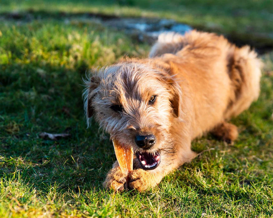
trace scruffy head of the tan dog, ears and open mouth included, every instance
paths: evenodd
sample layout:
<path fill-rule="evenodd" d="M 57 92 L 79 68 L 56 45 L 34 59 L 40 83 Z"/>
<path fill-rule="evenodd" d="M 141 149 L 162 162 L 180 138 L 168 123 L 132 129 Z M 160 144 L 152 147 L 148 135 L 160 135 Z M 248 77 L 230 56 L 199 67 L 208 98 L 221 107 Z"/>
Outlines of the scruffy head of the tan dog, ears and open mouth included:
<path fill-rule="evenodd" d="M 85 108 L 110 139 L 133 148 L 134 167 L 154 170 L 173 152 L 170 128 L 180 94 L 164 70 L 147 65 L 122 63 L 101 70 L 87 82 Z"/>

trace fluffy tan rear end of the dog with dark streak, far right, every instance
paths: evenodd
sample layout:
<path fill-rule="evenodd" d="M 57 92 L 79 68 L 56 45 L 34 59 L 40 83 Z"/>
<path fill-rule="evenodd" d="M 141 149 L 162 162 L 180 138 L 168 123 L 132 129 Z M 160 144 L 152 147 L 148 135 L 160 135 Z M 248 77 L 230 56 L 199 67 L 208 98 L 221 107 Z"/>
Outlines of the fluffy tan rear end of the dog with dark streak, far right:
<path fill-rule="evenodd" d="M 228 73 L 231 79 L 231 98 L 226 119 L 246 110 L 260 93 L 261 68 L 263 63 L 249 46 L 235 47 L 228 55 Z"/>

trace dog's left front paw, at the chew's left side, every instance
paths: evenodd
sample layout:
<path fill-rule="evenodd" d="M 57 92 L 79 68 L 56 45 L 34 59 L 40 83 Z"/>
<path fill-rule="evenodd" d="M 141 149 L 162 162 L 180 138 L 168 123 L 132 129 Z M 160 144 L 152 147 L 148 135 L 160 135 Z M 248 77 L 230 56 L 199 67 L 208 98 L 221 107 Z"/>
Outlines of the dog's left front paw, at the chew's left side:
<path fill-rule="evenodd" d="M 114 189 L 115 191 L 123 191 L 125 188 L 127 175 L 121 172 L 119 167 L 111 169 L 103 183 L 105 188 Z"/>

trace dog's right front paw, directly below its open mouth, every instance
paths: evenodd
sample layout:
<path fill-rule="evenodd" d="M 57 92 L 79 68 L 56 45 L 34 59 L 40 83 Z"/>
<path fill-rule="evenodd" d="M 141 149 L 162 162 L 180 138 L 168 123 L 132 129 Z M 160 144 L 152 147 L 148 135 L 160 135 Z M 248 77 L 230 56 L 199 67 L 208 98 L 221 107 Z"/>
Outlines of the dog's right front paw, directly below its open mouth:
<path fill-rule="evenodd" d="M 129 175 L 129 189 L 136 189 L 139 192 L 142 192 L 156 185 L 157 183 L 153 174 L 145 171 L 144 169 L 133 170 L 133 172 Z"/>

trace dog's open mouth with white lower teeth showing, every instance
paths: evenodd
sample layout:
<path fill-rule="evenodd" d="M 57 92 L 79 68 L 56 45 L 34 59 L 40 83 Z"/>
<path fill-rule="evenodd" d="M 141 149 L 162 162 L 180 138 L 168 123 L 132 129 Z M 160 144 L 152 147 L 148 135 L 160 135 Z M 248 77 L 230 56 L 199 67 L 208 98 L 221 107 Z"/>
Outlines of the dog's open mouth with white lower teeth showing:
<path fill-rule="evenodd" d="M 161 161 L 160 154 L 155 152 L 154 154 L 147 152 L 138 152 L 136 153 L 137 159 L 139 159 L 139 163 L 143 167 L 143 169 L 152 170 L 158 167 Z"/>

